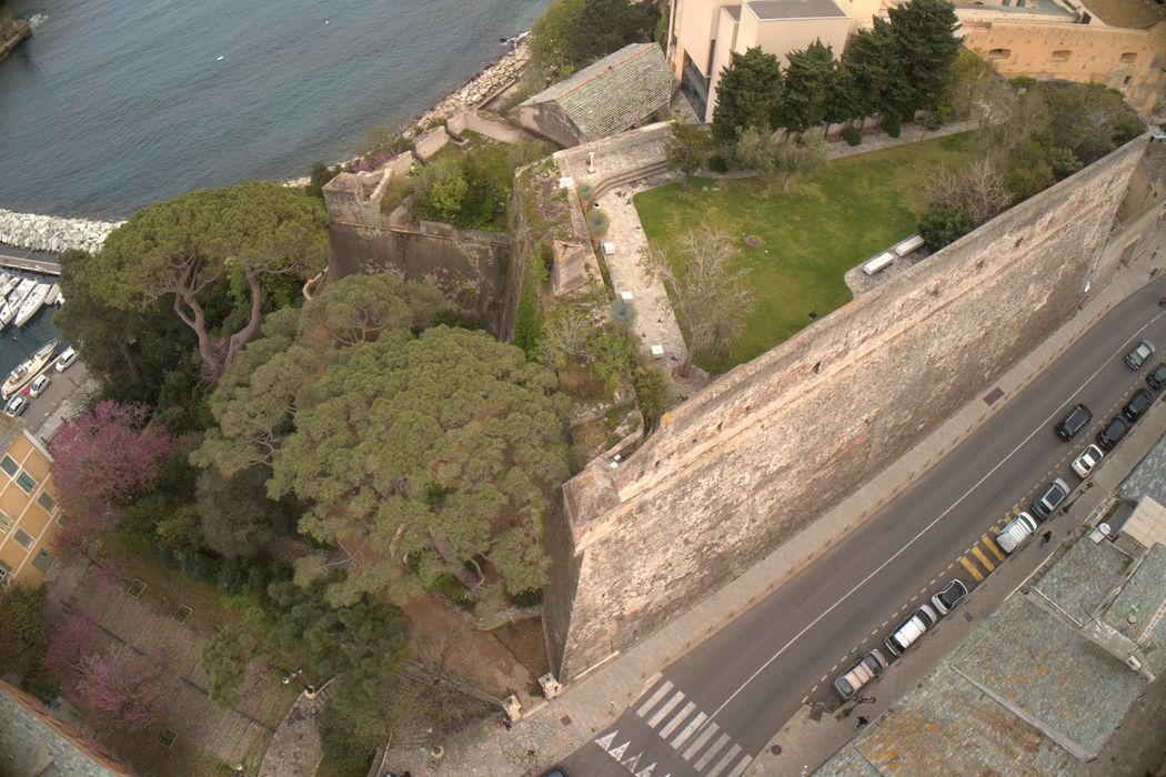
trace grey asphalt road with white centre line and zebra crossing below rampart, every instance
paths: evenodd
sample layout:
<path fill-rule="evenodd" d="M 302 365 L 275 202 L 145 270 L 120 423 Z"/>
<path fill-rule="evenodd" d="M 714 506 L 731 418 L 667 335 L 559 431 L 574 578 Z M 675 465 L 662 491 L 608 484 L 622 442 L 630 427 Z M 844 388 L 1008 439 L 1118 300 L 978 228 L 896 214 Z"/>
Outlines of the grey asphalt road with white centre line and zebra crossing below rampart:
<path fill-rule="evenodd" d="M 600 733 L 602 746 L 563 762 L 571 777 L 737 777 L 805 701 L 836 706 L 830 681 L 855 647 L 880 647 L 951 578 L 972 589 L 977 575 L 1007 563 L 985 539 L 993 527 L 1028 509 L 1054 476 L 1081 482 L 1073 457 L 1166 359 L 1164 295 L 1159 280 L 1124 301 L 827 556 L 666 667 Z M 1143 337 L 1159 351 L 1135 374 L 1122 356 Z M 1093 423 L 1062 443 L 1053 424 L 1077 402 Z"/>

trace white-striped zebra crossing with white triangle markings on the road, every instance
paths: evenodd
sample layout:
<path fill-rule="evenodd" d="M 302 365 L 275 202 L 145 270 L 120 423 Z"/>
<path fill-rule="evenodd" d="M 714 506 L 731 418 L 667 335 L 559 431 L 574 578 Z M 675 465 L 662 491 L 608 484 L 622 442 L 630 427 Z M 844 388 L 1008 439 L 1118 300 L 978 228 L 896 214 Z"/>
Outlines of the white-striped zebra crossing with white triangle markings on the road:
<path fill-rule="evenodd" d="M 645 695 L 635 715 L 702 777 L 739 777 L 749 768 L 752 756 L 670 680 L 661 680 Z M 619 729 L 604 734 L 595 743 L 635 777 L 670 777 L 656 774 L 656 763 L 642 750 L 633 754 L 635 748 L 628 737 L 619 736 Z"/>

